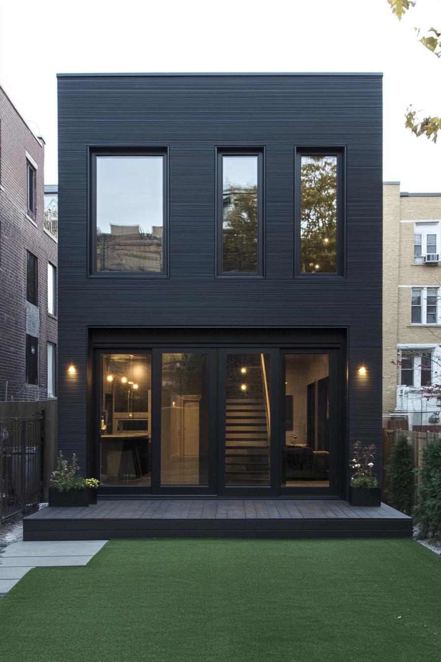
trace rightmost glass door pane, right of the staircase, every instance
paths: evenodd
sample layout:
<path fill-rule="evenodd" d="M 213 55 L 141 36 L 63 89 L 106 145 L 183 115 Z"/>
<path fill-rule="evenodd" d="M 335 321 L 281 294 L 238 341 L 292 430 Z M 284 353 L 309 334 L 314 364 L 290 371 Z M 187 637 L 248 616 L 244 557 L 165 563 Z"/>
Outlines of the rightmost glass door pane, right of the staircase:
<path fill-rule="evenodd" d="M 282 485 L 329 487 L 329 354 L 285 354 Z"/>

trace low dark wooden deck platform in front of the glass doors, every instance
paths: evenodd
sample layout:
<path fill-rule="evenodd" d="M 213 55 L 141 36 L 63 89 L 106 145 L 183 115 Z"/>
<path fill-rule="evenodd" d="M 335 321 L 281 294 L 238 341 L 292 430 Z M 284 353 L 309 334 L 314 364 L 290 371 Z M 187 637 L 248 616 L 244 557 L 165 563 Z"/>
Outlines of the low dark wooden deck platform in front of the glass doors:
<path fill-rule="evenodd" d="M 24 540 L 110 538 L 405 538 L 412 519 L 390 506 L 339 499 L 103 499 L 88 508 L 43 508 L 24 518 Z"/>

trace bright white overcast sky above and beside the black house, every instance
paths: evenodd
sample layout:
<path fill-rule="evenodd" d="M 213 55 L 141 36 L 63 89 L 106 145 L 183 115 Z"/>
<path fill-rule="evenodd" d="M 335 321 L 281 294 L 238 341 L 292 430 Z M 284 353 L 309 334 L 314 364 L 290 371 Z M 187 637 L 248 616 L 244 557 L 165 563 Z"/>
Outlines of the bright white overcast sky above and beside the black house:
<path fill-rule="evenodd" d="M 437 145 L 403 128 L 409 103 L 441 114 L 441 60 L 414 26 L 441 28 L 440 0 L 399 23 L 386 0 L 0 0 L 0 83 L 46 140 L 57 177 L 56 73 L 383 71 L 385 181 L 441 191 Z"/>

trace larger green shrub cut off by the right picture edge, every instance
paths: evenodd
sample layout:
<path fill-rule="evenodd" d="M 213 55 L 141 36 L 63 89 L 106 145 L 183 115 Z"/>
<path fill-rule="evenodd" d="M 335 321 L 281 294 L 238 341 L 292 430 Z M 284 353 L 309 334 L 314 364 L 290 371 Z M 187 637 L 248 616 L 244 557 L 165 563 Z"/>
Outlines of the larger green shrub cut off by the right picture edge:
<path fill-rule="evenodd" d="M 428 442 L 422 449 L 422 468 L 413 518 L 422 536 L 441 538 L 441 439 Z"/>

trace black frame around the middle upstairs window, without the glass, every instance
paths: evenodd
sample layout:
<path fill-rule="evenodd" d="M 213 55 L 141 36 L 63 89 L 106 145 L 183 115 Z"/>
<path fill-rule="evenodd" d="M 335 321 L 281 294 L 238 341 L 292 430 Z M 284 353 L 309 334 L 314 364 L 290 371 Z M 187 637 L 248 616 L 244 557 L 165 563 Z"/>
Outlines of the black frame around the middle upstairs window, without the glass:
<path fill-rule="evenodd" d="M 223 157 L 257 156 L 257 271 L 223 271 Z M 264 278 L 265 277 L 265 148 L 217 147 L 216 148 L 216 277 Z"/>

